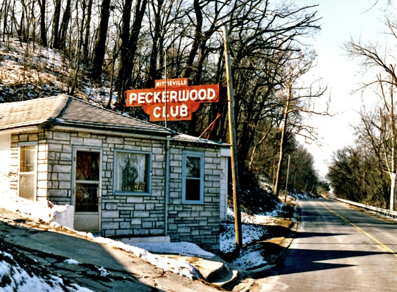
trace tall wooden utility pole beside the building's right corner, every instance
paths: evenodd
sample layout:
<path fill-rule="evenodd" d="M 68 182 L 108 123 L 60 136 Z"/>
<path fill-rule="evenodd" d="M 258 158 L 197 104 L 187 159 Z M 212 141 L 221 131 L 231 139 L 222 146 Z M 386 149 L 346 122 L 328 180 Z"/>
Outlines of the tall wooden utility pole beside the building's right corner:
<path fill-rule="evenodd" d="M 231 143 L 231 176 L 233 180 L 233 203 L 234 203 L 234 225 L 236 226 L 236 248 L 242 246 L 241 231 L 241 212 L 240 212 L 240 194 L 238 192 L 238 161 L 237 161 L 237 140 L 236 140 L 236 122 L 234 118 L 234 98 L 233 98 L 233 78 L 231 76 L 231 64 L 229 53 L 229 31 L 224 26 L 224 59 L 226 64 L 227 78 L 227 98 L 229 105 L 229 137 Z"/>

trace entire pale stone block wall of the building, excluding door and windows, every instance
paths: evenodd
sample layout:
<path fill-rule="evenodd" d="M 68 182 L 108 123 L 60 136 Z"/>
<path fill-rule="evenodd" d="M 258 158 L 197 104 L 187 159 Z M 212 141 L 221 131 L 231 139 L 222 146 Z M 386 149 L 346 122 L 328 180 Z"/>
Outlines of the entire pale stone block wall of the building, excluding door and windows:
<path fill-rule="evenodd" d="M 87 131 L 40 131 L 11 137 L 12 165 L 18 166 L 18 143 L 37 141 L 37 199 L 72 203 L 73 148 L 102 153 L 101 232 L 105 237 L 150 237 L 165 233 L 165 141 L 92 134 Z M 151 188 L 147 194 L 114 192 L 115 150 L 151 154 Z M 182 152 L 204 152 L 204 203 L 182 204 Z M 220 149 L 170 143 L 168 235 L 219 251 Z M 17 181 L 11 183 L 17 189 Z"/>

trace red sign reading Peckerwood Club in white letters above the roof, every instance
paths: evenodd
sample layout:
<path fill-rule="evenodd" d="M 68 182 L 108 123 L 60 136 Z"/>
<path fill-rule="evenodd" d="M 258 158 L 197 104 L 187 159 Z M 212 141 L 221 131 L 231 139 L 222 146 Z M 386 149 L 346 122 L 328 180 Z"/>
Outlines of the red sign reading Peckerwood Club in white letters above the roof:
<path fill-rule="evenodd" d="M 188 78 L 156 80 L 155 89 L 127 90 L 127 107 L 143 107 L 150 121 L 191 120 L 204 102 L 219 101 L 219 84 L 188 86 Z"/>

